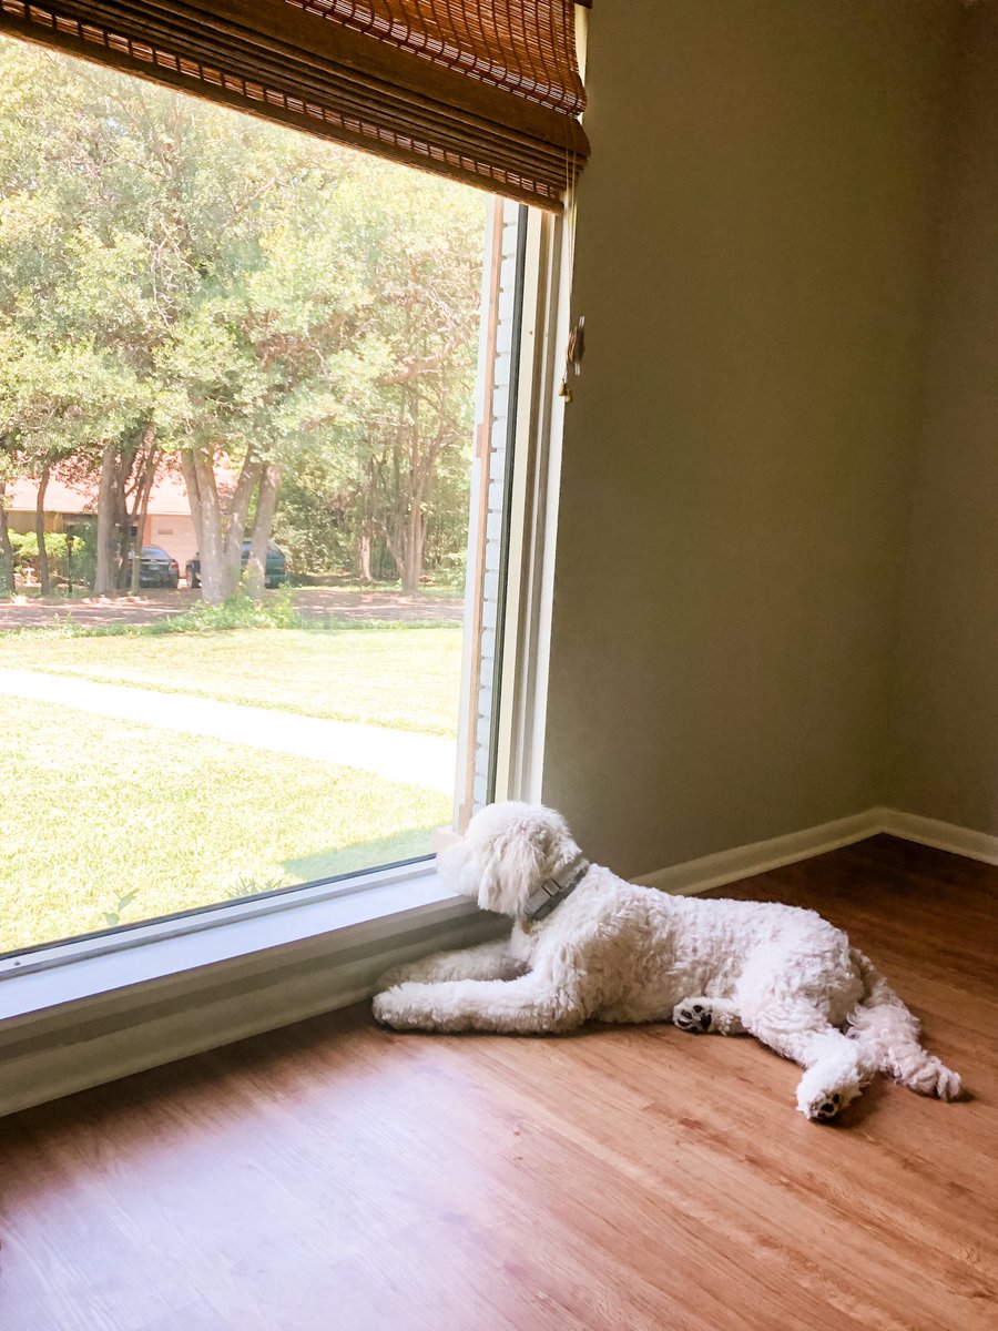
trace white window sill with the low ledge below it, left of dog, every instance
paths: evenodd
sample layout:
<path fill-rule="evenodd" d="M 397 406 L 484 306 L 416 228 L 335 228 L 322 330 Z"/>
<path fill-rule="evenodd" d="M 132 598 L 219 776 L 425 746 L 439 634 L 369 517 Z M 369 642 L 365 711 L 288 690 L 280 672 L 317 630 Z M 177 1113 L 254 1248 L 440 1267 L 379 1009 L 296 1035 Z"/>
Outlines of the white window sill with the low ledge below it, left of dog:
<path fill-rule="evenodd" d="M 8 958 L 0 1114 L 357 1002 L 498 926 L 426 862 Z"/>

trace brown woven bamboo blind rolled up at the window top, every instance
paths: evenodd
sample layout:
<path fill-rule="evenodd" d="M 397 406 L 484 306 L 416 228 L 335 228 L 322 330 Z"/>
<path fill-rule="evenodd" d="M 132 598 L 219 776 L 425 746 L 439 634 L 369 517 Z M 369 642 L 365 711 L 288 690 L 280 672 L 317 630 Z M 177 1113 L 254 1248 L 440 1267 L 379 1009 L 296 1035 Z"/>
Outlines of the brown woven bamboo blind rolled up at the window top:
<path fill-rule="evenodd" d="M 572 0 L 0 0 L 0 32 L 547 209 L 588 154 Z"/>

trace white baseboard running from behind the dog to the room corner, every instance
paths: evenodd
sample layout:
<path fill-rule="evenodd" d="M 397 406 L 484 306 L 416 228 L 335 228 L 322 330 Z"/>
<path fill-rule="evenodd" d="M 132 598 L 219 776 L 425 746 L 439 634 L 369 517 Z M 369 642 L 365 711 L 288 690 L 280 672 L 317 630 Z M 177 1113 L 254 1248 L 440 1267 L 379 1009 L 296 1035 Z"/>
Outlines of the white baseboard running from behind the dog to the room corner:
<path fill-rule="evenodd" d="M 766 873 L 769 869 L 778 869 L 797 860 L 810 860 L 816 855 L 837 851 L 842 845 L 852 845 L 854 841 L 864 841 L 868 836 L 884 832 L 885 812 L 885 809 L 866 809 L 848 819 L 821 823 L 818 827 L 789 832 L 769 841 L 733 847 L 717 855 L 705 855 L 700 860 L 688 860 L 685 864 L 659 869 L 637 878 L 637 882 L 661 888 L 676 896 L 693 896 L 711 888 L 723 888 L 727 882 L 750 878 L 756 873 Z"/>

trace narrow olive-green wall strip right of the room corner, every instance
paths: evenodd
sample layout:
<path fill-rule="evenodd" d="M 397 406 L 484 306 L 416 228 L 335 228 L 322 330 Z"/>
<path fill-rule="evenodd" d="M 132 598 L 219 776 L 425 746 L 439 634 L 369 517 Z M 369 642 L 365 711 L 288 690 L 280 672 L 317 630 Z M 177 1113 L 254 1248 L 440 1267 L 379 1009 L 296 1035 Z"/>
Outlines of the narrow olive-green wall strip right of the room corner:
<path fill-rule="evenodd" d="M 962 27 L 912 511 L 897 808 L 998 835 L 998 7 Z"/>

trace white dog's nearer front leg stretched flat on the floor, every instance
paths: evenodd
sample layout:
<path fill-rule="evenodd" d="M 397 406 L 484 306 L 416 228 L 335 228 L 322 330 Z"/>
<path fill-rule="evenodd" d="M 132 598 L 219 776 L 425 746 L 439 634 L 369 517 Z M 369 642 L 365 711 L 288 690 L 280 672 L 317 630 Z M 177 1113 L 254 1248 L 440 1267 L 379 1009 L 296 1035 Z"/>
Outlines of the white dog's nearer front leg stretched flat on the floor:
<path fill-rule="evenodd" d="M 574 988 L 555 986 L 528 973 L 508 981 L 395 985 L 375 997 L 374 1016 L 395 1030 L 547 1034 L 580 1026 L 588 1013 Z"/>

